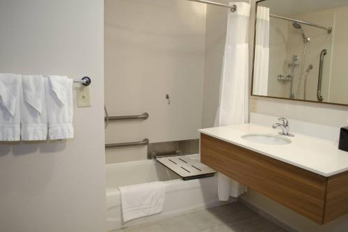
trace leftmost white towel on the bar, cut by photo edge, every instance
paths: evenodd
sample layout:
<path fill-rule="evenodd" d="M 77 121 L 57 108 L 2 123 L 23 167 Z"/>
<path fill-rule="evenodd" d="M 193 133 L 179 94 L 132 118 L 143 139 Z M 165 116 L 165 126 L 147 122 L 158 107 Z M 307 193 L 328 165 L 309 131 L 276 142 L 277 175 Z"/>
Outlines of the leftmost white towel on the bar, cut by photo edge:
<path fill-rule="evenodd" d="M 20 102 L 22 77 L 0 74 L 0 141 L 20 140 Z"/>

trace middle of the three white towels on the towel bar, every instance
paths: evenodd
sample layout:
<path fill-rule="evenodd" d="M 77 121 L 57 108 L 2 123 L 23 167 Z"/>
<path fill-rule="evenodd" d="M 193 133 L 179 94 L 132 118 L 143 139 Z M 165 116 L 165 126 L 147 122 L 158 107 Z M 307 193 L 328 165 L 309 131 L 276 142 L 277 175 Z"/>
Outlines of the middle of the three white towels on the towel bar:
<path fill-rule="evenodd" d="M 42 75 L 22 76 L 21 137 L 24 141 L 47 139 L 45 78 Z"/>

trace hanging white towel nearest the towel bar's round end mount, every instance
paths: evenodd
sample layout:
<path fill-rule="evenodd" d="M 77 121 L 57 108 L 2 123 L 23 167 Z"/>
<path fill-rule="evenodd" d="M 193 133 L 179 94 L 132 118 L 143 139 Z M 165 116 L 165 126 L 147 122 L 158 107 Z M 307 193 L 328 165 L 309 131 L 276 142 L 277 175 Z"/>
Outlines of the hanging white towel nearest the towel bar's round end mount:
<path fill-rule="evenodd" d="M 72 139 L 72 79 L 49 76 L 45 86 L 49 139 Z"/>

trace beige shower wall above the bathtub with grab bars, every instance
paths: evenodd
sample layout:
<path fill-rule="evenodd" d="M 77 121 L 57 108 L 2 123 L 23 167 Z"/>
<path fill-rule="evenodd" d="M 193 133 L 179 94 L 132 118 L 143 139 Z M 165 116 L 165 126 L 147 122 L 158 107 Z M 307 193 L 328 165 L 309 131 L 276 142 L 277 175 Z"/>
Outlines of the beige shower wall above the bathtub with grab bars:
<path fill-rule="evenodd" d="M 106 142 L 198 139 L 202 124 L 205 4 L 182 0 L 105 1 Z M 167 104 L 166 93 L 171 96 Z M 146 159 L 145 146 L 106 150 L 106 163 Z"/>

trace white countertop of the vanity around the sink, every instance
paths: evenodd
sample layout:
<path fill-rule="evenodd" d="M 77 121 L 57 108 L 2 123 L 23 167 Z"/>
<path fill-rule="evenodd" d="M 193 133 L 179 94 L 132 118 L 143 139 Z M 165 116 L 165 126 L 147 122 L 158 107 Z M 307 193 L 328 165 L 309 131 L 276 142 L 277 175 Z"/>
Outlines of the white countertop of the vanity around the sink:
<path fill-rule="evenodd" d="M 338 149 L 338 142 L 318 139 L 304 134 L 294 133 L 294 137 L 286 137 L 292 142 L 285 145 L 267 145 L 246 141 L 245 134 L 262 133 L 278 134 L 271 126 L 256 124 L 231 125 L 201 129 L 199 132 L 227 141 L 276 160 L 292 164 L 296 167 L 313 171 L 322 176 L 333 176 L 348 171 L 348 152 Z"/>

